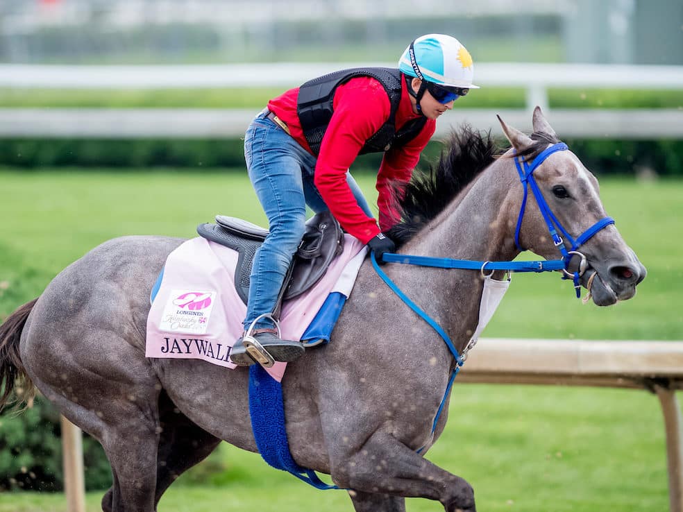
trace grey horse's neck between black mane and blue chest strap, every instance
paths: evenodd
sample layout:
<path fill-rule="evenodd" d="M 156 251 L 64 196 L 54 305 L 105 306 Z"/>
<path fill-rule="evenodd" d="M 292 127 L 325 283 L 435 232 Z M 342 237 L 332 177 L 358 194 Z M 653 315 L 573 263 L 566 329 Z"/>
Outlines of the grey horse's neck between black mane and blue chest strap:
<path fill-rule="evenodd" d="M 478 261 L 514 259 L 519 252 L 514 244 L 521 197 L 518 187 L 512 160 L 496 160 L 400 252 Z M 462 351 L 478 323 L 483 288 L 480 272 L 438 268 L 416 272 L 410 265 L 398 266 L 403 267 L 396 270 L 400 279 L 410 283 L 409 295 Z M 500 279 L 502 274 L 494 278 Z"/>

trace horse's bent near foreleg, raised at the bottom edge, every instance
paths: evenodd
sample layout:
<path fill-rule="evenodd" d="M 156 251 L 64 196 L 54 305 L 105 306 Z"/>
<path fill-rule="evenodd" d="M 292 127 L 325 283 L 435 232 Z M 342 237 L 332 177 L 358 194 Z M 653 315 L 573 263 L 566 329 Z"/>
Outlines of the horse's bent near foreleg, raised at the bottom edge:
<path fill-rule="evenodd" d="M 425 497 L 438 500 L 448 512 L 475 512 L 470 484 L 383 432 L 334 461 L 331 470 L 338 486 L 356 492 Z"/>

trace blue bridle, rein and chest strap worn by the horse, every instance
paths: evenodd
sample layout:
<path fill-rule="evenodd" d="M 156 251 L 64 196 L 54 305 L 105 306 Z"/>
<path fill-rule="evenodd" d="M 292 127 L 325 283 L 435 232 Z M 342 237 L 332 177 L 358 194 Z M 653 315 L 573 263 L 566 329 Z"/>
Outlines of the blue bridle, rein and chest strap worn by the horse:
<path fill-rule="evenodd" d="M 389 263 L 403 263 L 419 266 L 431 266 L 437 268 L 462 268 L 466 270 L 478 270 L 482 272 L 482 275 L 484 271 L 487 270 L 501 270 L 508 272 L 562 271 L 564 273 L 563 279 L 567 279 L 571 276 L 574 282 L 576 296 L 577 298 L 580 298 L 581 284 L 579 280 L 581 278 L 581 275 L 586 270 L 587 259 L 584 255 L 582 255 L 582 253 L 579 253 L 577 249 L 580 248 L 580 246 L 585 244 L 587 241 L 589 241 L 597 232 L 602 230 L 602 228 L 605 228 L 610 224 L 614 224 L 614 219 L 612 219 L 612 217 L 605 217 L 604 219 L 601 219 L 600 221 L 593 224 L 590 228 L 582 232 L 582 234 L 576 237 L 576 239 L 573 239 L 573 237 L 571 237 L 567 230 L 564 229 L 562 224 L 559 223 L 557 217 L 553 214 L 552 210 L 550 210 L 550 207 L 546 202 L 546 198 L 544 198 L 543 194 L 541 194 L 541 189 L 539 189 L 539 186 L 537 185 L 537 182 L 534 179 L 533 172 L 539 167 L 539 165 L 543 163 L 543 161 L 546 160 L 546 158 L 548 158 L 548 156 L 552 155 L 557 151 L 565 151 L 568 149 L 569 148 L 566 144 L 564 144 L 564 142 L 553 144 L 553 146 L 550 146 L 549 148 L 546 148 L 541 153 L 539 153 L 539 155 L 535 157 L 530 164 L 528 164 L 526 160 L 523 159 L 523 157 L 520 157 L 518 155 L 515 155 L 514 157 L 514 163 L 519 173 L 519 179 L 522 183 L 522 186 L 524 187 L 524 197 L 522 199 L 522 204 L 517 219 L 517 227 L 514 233 L 514 243 L 519 250 L 525 250 L 519 244 L 519 232 L 521 230 L 522 220 L 524 218 L 524 212 L 528 198 L 528 191 L 529 188 L 531 188 L 531 191 L 534 194 L 534 198 L 536 198 L 536 202 L 539 205 L 539 210 L 541 210 L 541 215 L 543 215 L 543 219 L 546 221 L 546 225 L 548 225 L 550 237 L 553 238 L 553 243 L 558 248 L 559 252 L 562 253 L 562 259 L 550 259 L 546 261 L 534 262 L 480 262 L 473 261 L 470 259 L 436 258 L 428 256 L 385 253 L 385 255 L 382 258 L 383 261 Z M 569 250 L 567 250 L 562 237 L 560 237 L 557 233 L 558 230 L 562 233 L 562 235 L 564 235 L 564 238 L 568 241 L 568 243 L 571 244 Z M 580 256 L 581 262 L 577 268 L 577 271 L 572 273 L 568 270 L 568 268 L 573 255 Z M 450 378 L 448 379 L 448 384 L 446 385 L 446 393 L 444 394 L 444 398 L 441 400 L 441 404 L 439 404 L 439 409 L 437 410 L 436 417 L 434 418 L 434 422 L 432 423 L 433 435 L 437 428 L 437 422 L 439 421 L 439 416 L 441 416 L 441 411 L 443 411 L 444 405 L 446 404 L 446 400 L 448 399 L 450 387 L 453 385 L 453 380 L 455 379 L 455 376 L 458 374 L 460 368 L 464 364 L 464 357 L 459 355 L 459 352 L 455 348 L 453 341 L 450 340 L 448 334 L 446 334 L 446 332 L 441 328 L 441 326 L 438 323 L 436 323 L 434 319 L 431 318 L 427 313 L 425 313 L 418 305 L 416 305 L 412 300 L 410 300 L 410 298 L 408 298 L 405 295 L 405 293 L 403 293 L 403 291 L 401 291 L 398 288 L 398 286 L 396 286 L 396 283 L 394 283 L 391 280 L 391 278 L 389 278 L 389 276 L 384 271 L 382 271 L 375 258 L 375 253 L 371 253 L 370 259 L 372 261 L 373 268 L 375 268 L 375 271 L 378 273 L 380 278 L 382 278 L 382 280 L 387 284 L 387 286 L 389 286 L 389 288 L 392 291 L 394 291 L 394 293 L 396 293 L 396 295 L 401 300 L 403 300 L 403 302 L 405 302 L 405 304 L 408 307 L 410 307 L 410 309 L 412 309 L 416 314 L 418 314 L 418 316 L 420 316 L 426 323 L 428 323 L 432 327 L 432 329 L 434 329 L 437 332 L 437 334 L 439 334 L 439 336 L 441 336 L 441 339 L 443 339 L 444 343 L 446 343 L 446 346 L 448 347 L 448 350 L 450 351 L 451 355 L 453 355 L 453 359 L 455 359 L 455 367 L 453 368 L 453 372 L 451 373 Z M 421 452 L 423 449 L 424 446 L 417 451 Z"/>

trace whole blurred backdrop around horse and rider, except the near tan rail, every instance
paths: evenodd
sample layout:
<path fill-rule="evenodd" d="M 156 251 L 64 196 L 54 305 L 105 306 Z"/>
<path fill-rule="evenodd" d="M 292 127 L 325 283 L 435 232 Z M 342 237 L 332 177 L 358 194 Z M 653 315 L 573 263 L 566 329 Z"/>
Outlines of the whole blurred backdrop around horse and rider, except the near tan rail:
<path fill-rule="evenodd" d="M 264 224 L 250 119 L 328 71 L 395 66 L 424 33 L 457 37 L 482 88 L 440 120 L 419 169 L 461 123 L 500 137 L 500 114 L 529 131 L 541 105 L 648 267 L 636 298 L 609 309 L 582 306 L 556 275 L 516 276 L 484 336 L 683 340 L 680 0 L 0 0 L 0 321 L 106 239 L 192 237 L 219 213 Z M 379 162 L 352 169 L 371 204 Z M 644 391 L 471 384 L 451 403 L 467 413 L 429 458 L 471 481 L 482 510 L 668 506 L 661 413 Z M 0 512 L 67 510 L 59 436 L 40 397 L 0 413 Z M 96 511 L 111 474 L 96 441 L 84 450 Z M 160 511 L 351 509 L 225 443 L 168 495 Z"/>

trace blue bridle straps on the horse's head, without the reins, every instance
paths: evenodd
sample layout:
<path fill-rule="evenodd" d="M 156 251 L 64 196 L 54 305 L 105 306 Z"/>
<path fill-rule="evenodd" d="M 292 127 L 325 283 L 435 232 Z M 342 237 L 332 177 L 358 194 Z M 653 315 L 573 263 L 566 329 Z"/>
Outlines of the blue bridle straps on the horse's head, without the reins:
<path fill-rule="evenodd" d="M 601 219 L 600 221 L 591 225 L 590 228 L 582 232 L 582 234 L 580 234 L 576 239 L 573 239 L 573 237 L 571 237 L 571 234 L 569 234 L 567 230 L 564 229 L 562 224 L 557 220 L 557 217 L 555 216 L 555 214 L 553 214 L 553 210 L 550 210 L 550 207 L 546 202 L 546 198 L 544 198 L 543 194 L 541 194 L 541 189 L 539 189 L 539 186 L 536 180 L 534 179 L 533 172 L 539 167 L 539 165 L 541 165 L 546 160 L 546 158 L 548 158 L 553 153 L 556 153 L 557 151 L 565 151 L 568 149 L 569 148 L 566 144 L 564 144 L 564 142 L 553 144 L 553 146 L 550 146 L 549 148 L 546 148 L 541 153 L 539 153 L 539 155 L 535 157 L 530 164 L 528 164 L 523 157 L 520 157 L 515 154 L 514 164 L 517 167 L 519 179 L 522 183 L 522 186 L 524 187 L 524 198 L 522 199 L 522 205 L 519 209 L 519 216 L 517 218 L 517 227 L 514 232 L 514 244 L 517 246 L 519 250 L 525 250 L 519 244 L 519 230 L 521 229 L 522 220 L 524 219 L 528 191 L 531 188 L 531 191 L 534 194 L 534 198 L 536 198 L 536 202 L 539 205 L 539 210 L 541 210 L 543 220 L 546 221 L 546 225 L 548 226 L 548 232 L 550 232 L 550 237 L 553 239 L 553 244 L 555 244 L 555 247 L 557 247 L 559 252 L 562 253 L 562 261 L 564 262 L 564 268 L 561 269 L 564 273 L 563 279 L 573 280 L 574 288 L 576 289 L 576 296 L 577 298 L 580 298 L 581 285 L 579 283 L 579 279 L 588 267 L 588 260 L 586 259 L 585 255 L 578 251 L 578 248 L 580 248 L 580 246 L 589 241 L 598 231 L 602 230 L 602 228 L 606 228 L 608 225 L 614 224 L 614 219 L 612 219 L 612 217 L 605 217 L 604 219 Z M 566 241 L 568 241 L 568 243 L 571 244 L 569 250 L 567 250 L 562 237 L 559 236 L 558 230 L 560 233 L 562 233 Z M 577 271 L 570 272 L 569 263 L 571 262 L 572 257 L 575 255 L 579 256 L 581 260 L 577 267 Z"/>

